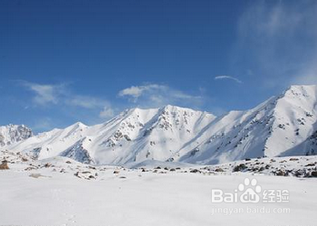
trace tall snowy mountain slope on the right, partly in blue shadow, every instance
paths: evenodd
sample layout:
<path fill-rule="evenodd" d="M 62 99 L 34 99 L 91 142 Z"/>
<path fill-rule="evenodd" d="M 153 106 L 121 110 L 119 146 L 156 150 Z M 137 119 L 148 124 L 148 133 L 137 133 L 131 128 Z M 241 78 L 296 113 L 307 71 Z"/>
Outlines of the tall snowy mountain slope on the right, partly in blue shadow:
<path fill-rule="evenodd" d="M 292 86 L 256 108 L 216 118 L 182 150 L 179 161 L 216 164 L 264 155 L 314 155 L 316 93 L 316 86 Z"/>

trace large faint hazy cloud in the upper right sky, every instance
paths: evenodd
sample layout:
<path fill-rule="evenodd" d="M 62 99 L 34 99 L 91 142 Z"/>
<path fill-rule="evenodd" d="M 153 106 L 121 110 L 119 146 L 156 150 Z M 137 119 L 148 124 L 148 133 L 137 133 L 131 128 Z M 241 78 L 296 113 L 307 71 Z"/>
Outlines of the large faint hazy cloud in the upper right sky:
<path fill-rule="evenodd" d="M 238 20 L 235 66 L 253 65 L 268 87 L 316 84 L 316 27 L 316 1 L 255 1 Z"/>

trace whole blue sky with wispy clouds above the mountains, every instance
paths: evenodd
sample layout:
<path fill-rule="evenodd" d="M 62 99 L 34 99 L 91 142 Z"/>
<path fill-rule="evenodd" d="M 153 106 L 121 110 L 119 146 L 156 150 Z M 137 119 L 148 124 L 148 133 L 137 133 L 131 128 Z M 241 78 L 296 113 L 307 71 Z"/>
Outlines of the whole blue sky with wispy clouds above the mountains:
<path fill-rule="evenodd" d="M 317 83 L 316 1 L 0 2 L 0 125 L 253 108 Z"/>

